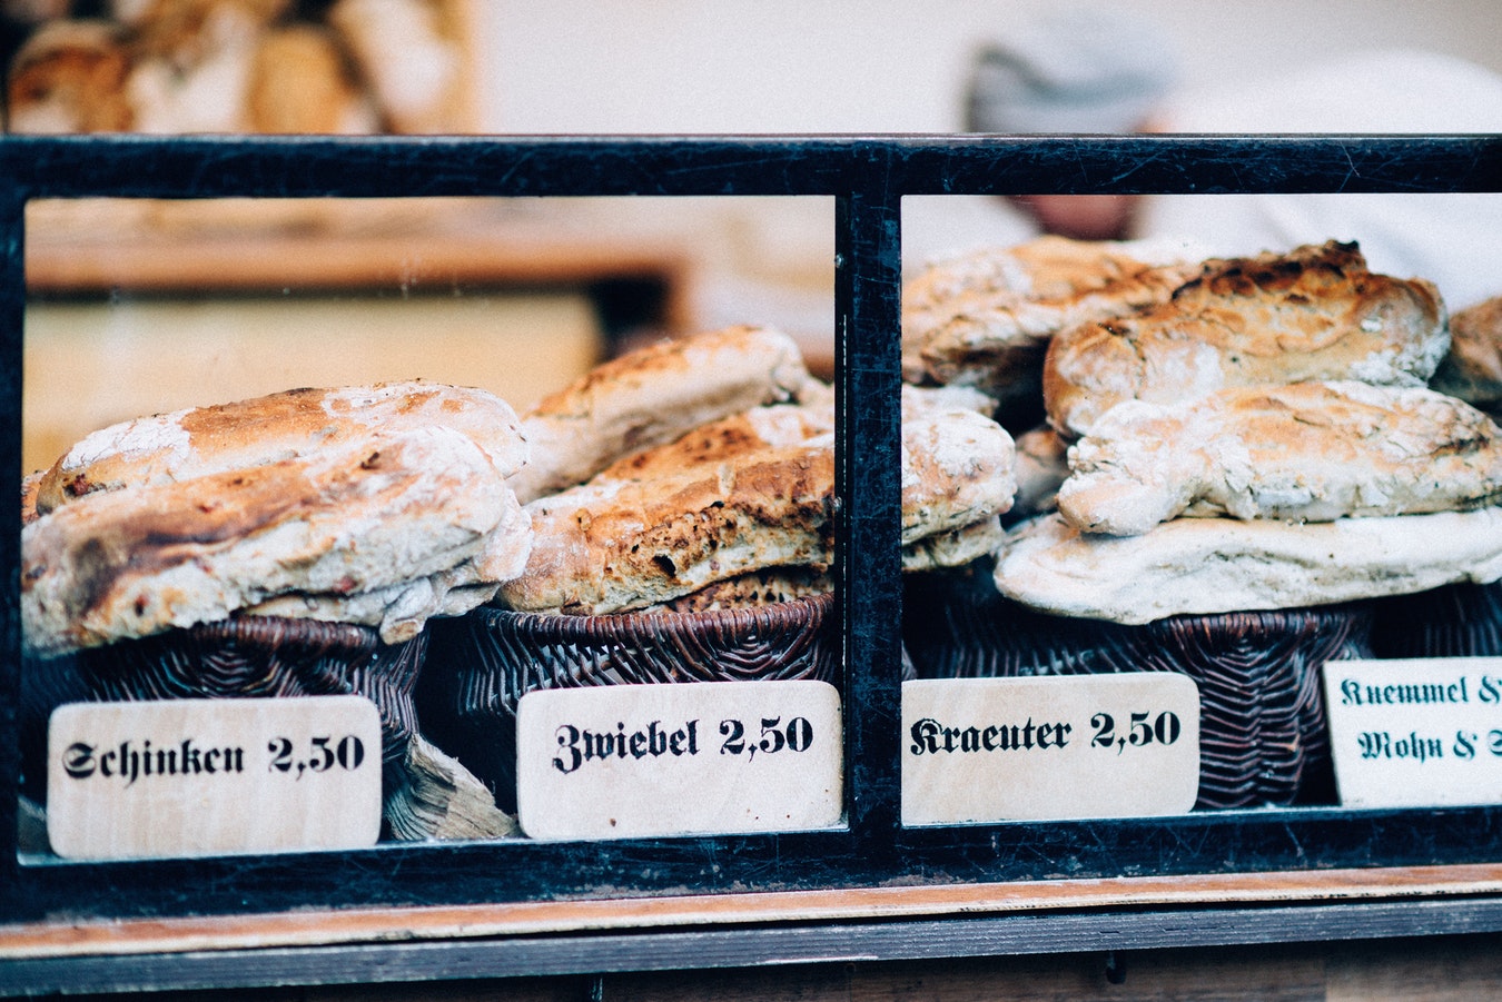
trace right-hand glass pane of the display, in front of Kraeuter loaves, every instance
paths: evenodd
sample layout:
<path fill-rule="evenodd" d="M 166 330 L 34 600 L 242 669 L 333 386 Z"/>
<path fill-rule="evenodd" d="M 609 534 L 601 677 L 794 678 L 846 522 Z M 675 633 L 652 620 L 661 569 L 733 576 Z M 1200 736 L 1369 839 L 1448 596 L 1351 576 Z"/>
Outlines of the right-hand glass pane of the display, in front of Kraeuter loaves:
<path fill-rule="evenodd" d="M 913 678 L 1005 682 L 904 687 L 904 819 L 1497 802 L 1502 783 L 1470 765 L 1490 724 L 1464 715 L 1490 669 L 1433 659 L 1499 653 L 1502 431 L 1481 359 L 1502 282 L 1473 251 L 1496 243 L 1502 198 L 1154 197 L 1122 242 L 1018 233 L 1017 207 L 1044 201 L 1044 222 L 1101 207 L 904 200 L 921 240 L 904 439 L 945 434 L 924 401 L 973 407 L 1005 448 L 955 422 L 970 461 L 948 469 L 949 497 L 1008 493 L 999 541 L 906 578 Z M 916 497 L 907 532 L 939 511 Z M 1344 664 L 1370 658 L 1427 661 L 1398 684 Z M 1101 678 L 1139 673 L 1188 678 L 1197 712 L 1157 690 L 1111 703 Z M 1197 792 L 1154 799 L 1178 766 L 1148 756 L 1193 745 L 1191 714 Z M 1093 756 L 1078 777 L 1054 771 L 1062 735 Z M 1356 766 L 1376 777 L 1361 792 Z M 946 777 L 963 781 L 936 805 Z M 1075 799 L 1051 799 L 1075 778 Z M 973 796 L 991 787 L 1015 796 Z"/>

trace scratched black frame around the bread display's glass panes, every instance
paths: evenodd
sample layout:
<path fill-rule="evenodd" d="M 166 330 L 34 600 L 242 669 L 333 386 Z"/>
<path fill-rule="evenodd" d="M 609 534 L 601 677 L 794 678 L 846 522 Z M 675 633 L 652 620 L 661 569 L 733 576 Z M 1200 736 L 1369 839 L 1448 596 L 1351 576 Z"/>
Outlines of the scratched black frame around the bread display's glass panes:
<path fill-rule="evenodd" d="M 15 533 L 0 533 L 0 916 L 455 904 L 895 882 L 1502 861 L 1502 807 L 1223 811 L 904 829 L 898 808 L 901 198 L 927 194 L 1502 191 L 1502 137 L 445 137 L 0 140 L 0 496 L 18 496 L 24 207 L 44 197 L 835 198 L 847 831 L 120 864 L 15 852 Z M 891 461 L 873 461 L 889 457 Z M 1487 912 L 1487 915 L 1493 915 Z M 1496 916 L 1487 922 L 1502 922 Z M 1497 927 L 1502 927 L 1499 924 Z M 1410 931 L 1424 931 L 1415 927 Z M 960 949 L 955 946 L 955 949 Z"/>

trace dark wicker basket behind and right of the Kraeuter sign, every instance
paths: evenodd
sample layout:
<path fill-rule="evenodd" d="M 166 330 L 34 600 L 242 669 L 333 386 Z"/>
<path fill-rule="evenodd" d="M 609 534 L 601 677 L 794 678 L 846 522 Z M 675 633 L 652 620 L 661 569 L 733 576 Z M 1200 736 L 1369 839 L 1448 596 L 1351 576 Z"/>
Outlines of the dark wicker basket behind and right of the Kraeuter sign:
<path fill-rule="evenodd" d="M 1196 808 L 1329 802 L 1320 667 L 1370 656 L 1371 608 L 1173 616 L 1143 626 L 1048 616 L 960 581 L 907 589 L 919 678 L 1179 672 L 1200 690 Z"/>

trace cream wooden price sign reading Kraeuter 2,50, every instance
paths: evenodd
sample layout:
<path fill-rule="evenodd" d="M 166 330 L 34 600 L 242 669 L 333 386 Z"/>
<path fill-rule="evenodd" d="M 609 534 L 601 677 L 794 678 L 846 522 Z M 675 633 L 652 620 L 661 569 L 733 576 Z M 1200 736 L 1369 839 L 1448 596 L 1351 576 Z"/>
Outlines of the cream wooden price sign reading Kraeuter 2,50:
<path fill-rule="evenodd" d="M 1182 814 L 1200 699 L 1169 672 L 903 684 L 903 823 Z"/>

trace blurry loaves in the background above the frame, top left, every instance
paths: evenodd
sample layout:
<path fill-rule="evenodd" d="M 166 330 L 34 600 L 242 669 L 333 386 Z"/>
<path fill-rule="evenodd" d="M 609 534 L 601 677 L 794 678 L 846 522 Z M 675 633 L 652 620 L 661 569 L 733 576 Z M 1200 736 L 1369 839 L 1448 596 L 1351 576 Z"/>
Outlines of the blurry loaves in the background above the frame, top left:
<path fill-rule="evenodd" d="M 470 132 L 467 0 L 113 0 L 18 21 L 12 132 Z"/>

